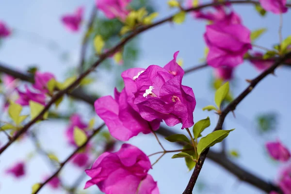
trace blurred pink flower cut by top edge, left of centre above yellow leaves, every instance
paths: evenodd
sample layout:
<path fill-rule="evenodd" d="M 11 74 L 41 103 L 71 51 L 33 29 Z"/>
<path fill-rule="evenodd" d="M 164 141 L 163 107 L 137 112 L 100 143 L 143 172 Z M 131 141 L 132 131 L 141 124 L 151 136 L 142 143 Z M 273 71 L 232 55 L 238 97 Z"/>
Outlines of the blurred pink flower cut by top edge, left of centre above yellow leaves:
<path fill-rule="evenodd" d="M 125 20 L 129 14 L 127 6 L 130 2 L 131 0 L 96 0 L 96 5 L 109 19 L 117 17 Z"/>

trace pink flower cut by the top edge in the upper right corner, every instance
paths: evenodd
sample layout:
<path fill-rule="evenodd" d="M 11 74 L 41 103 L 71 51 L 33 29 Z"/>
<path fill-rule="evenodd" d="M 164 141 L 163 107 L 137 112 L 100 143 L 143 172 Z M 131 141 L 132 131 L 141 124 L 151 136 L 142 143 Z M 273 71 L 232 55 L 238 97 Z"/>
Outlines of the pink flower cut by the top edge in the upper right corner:
<path fill-rule="evenodd" d="M 287 0 L 259 0 L 261 6 L 274 14 L 282 14 L 288 11 Z"/>

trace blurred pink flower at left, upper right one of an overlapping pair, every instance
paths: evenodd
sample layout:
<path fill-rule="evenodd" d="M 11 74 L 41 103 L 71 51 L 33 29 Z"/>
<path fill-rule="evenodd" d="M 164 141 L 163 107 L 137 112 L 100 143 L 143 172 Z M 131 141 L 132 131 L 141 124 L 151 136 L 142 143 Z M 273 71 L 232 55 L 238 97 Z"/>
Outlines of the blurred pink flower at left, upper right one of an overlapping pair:
<path fill-rule="evenodd" d="M 45 73 L 40 73 L 40 72 L 36 72 L 34 75 L 34 84 L 33 87 L 39 91 L 41 91 L 42 93 L 48 93 L 48 82 L 51 79 L 55 79 L 54 75 L 49 73 L 49 72 L 45 72 Z"/>

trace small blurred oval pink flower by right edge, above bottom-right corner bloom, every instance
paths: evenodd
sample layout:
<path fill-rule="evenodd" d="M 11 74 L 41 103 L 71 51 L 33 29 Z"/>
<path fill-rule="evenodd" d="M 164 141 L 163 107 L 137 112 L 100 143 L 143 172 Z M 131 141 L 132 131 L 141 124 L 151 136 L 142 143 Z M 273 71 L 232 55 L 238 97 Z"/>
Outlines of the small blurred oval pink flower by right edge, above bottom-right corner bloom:
<path fill-rule="evenodd" d="M 279 141 L 267 142 L 266 148 L 270 156 L 277 161 L 286 162 L 291 157 L 289 150 Z"/>

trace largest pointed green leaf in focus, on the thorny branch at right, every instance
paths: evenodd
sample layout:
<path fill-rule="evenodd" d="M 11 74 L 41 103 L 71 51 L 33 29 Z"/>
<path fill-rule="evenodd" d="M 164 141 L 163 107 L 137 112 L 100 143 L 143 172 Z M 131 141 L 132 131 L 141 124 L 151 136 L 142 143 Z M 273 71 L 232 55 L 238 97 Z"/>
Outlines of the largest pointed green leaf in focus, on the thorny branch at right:
<path fill-rule="evenodd" d="M 233 131 L 234 129 L 231 130 L 216 130 L 213 131 L 212 133 L 209 133 L 207 136 L 202 137 L 201 140 L 198 142 L 197 145 L 197 152 L 198 155 L 207 149 L 208 147 L 214 146 L 216 143 L 221 142 L 224 138 L 227 137 L 230 131 Z"/>

